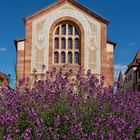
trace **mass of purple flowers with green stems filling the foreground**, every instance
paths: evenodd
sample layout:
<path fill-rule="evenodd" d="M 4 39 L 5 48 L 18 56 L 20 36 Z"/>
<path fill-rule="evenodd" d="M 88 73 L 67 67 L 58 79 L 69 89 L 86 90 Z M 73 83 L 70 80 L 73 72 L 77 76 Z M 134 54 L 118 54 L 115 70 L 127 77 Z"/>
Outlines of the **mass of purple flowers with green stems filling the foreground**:
<path fill-rule="evenodd" d="M 54 76 L 55 75 L 55 76 Z M 55 69 L 31 87 L 0 89 L 0 139 L 139 140 L 140 93 L 113 93 L 90 70 Z"/>

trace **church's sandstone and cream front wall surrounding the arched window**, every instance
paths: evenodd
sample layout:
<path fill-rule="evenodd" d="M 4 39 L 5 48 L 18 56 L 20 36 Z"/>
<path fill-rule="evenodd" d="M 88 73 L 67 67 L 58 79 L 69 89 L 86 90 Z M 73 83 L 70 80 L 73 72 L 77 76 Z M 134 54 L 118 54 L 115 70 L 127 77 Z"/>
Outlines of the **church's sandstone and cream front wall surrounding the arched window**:
<path fill-rule="evenodd" d="M 97 76 L 105 76 L 105 85 L 114 81 L 113 45 L 107 45 L 107 25 L 97 21 L 69 3 L 57 5 L 54 9 L 43 11 L 35 18 L 26 20 L 25 48 L 17 50 L 17 80 L 29 77 L 36 68 L 40 74 L 41 66 L 52 68 L 52 32 L 55 23 L 69 20 L 77 24 L 82 33 L 81 64 L 85 70 L 91 69 Z M 92 57 L 94 56 L 94 57 Z M 24 59 L 24 60 L 23 60 Z"/>

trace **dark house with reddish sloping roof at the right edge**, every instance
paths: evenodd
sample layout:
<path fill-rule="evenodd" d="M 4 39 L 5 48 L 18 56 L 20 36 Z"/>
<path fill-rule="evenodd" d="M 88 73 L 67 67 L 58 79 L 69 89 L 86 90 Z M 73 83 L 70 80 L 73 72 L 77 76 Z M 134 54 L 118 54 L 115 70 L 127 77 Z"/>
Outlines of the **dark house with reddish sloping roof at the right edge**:
<path fill-rule="evenodd" d="M 127 92 L 140 91 L 140 50 L 128 65 L 124 85 Z"/>

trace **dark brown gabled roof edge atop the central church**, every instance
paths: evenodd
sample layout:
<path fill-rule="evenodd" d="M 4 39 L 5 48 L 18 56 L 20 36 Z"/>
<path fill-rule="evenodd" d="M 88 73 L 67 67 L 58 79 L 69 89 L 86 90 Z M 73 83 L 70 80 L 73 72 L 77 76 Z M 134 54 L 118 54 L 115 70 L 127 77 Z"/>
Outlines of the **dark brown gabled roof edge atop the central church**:
<path fill-rule="evenodd" d="M 51 10 L 52 8 L 54 8 L 55 6 L 61 6 L 64 3 L 70 3 L 72 5 L 74 5 L 75 7 L 77 7 L 78 9 L 81 9 L 82 11 L 86 12 L 87 14 L 89 14 L 90 16 L 94 17 L 95 19 L 105 23 L 105 24 L 109 24 L 109 20 L 105 19 L 104 17 L 102 17 L 101 15 L 89 10 L 87 7 L 83 6 L 82 4 L 78 3 L 76 0 L 59 0 L 57 2 L 55 2 L 54 4 L 47 6 L 46 8 L 41 9 L 40 11 L 27 16 L 24 18 L 24 21 L 28 20 L 28 19 L 32 19 L 36 16 L 38 16 L 39 14 L 42 14 L 43 12 L 47 11 L 47 10 Z"/>

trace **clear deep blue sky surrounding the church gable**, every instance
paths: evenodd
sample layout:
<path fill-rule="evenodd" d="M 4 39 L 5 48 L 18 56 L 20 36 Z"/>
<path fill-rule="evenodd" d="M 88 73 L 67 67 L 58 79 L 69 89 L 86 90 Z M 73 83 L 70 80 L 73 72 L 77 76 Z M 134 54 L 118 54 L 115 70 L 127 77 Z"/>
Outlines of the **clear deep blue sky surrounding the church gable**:
<path fill-rule="evenodd" d="M 116 76 L 120 67 L 132 61 L 140 47 L 140 0 L 77 0 L 110 20 L 108 39 L 115 48 Z M 0 0 L 0 70 L 15 79 L 16 50 L 14 40 L 24 37 L 23 17 L 46 7 L 55 0 Z"/>

